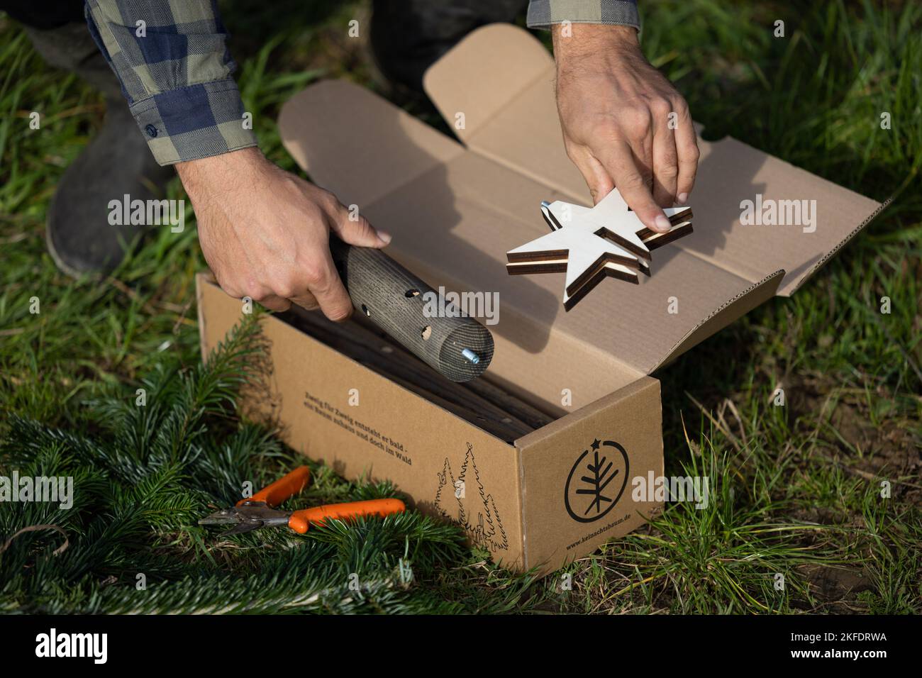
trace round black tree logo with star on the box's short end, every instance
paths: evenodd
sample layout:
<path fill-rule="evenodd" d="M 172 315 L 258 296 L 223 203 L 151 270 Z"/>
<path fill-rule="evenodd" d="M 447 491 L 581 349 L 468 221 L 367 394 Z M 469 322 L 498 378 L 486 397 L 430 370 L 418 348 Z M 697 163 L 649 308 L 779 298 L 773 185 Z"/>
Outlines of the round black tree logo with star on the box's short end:
<path fill-rule="evenodd" d="M 618 504 L 628 484 L 628 453 L 613 440 L 592 441 L 573 463 L 563 504 L 573 520 L 591 523 Z"/>

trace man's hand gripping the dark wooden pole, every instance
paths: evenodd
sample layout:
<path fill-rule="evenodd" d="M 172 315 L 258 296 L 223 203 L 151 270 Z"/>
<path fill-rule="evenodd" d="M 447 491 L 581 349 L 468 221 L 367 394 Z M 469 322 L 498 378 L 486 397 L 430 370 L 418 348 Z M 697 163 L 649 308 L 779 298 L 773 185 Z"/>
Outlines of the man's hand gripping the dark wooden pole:
<path fill-rule="evenodd" d="M 364 247 L 391 240 L 328 191 L 280 170 L 258 149 L 176 165 L 195 208 L 198 242 L 228 294 L 274 311 L 291 303 L 345 320 L 352 302 L 330 255 L 330 232 Z"/>

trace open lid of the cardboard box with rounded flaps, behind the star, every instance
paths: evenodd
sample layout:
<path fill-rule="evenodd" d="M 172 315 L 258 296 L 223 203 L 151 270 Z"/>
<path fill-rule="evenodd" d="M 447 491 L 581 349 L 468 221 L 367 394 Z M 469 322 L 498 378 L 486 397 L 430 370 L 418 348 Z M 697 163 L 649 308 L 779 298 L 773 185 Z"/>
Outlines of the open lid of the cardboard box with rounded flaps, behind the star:
<path fill-rule="evenodd" d="M 561 410 L 561 384 L 585 405 L 789 295 L 881 208 L 735 139 L 699 139 L 695 231 L 656 250 L 639 286 L 603 282 L 565 313 L 562 275 L 504 268 L 508 250 L 546 232 L 541 200 L 589 204 L 563 149 L 553 79 L 540 42 L 496 24 L 425 77 L 465 145 L 342 81 L 305 89 L 279 117 L 285 147 L 313 180 L 394 235 L 391 256 L 433 287 L 499 292 L 489 374 L 550 410 Z M 757 195 L 763 204 L 808 201 L 815 231 L 740 224 L 740 201 Z M 678 313 L 668 312 L 670 297 Z"/>

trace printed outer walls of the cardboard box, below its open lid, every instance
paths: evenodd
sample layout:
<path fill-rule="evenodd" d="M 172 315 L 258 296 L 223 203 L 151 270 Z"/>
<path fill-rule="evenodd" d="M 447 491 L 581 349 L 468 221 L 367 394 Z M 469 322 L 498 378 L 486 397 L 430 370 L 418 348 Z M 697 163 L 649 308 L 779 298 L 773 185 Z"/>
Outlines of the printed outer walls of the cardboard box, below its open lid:
<path fill-rule="evenodd" d="M 207 359 L 243 307 L 206 274 L 196 288 Z M 264 319 L 263 338 L 270 360 L 247 393 L 248 414 L 280 424 L 290 446 L 347 478 L 391 480 L 416 508 L 464 528 L 497 563 L 547 572 L 661 507 L 633 502 L 629 484 L 635 475 L 662 474 L 656 379 L 641 377 L 510 445 L 278 317 Z M 586 519 L 587 506 L 574 506 L 582 499 L 575 488 L 594 442 L 612 461 L 605 477 L 613 492 L 610 506 Z"/>

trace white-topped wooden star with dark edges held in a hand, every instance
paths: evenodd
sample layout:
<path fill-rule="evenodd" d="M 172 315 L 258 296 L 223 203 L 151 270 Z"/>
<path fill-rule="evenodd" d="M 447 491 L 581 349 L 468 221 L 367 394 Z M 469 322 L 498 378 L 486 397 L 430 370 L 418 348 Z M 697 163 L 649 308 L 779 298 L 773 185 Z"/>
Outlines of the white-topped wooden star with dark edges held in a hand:
<path fill-rule="evenodd" d="M 649 231 L 617 189 L 594 208 L 556 200 L 541 203 L 550 233 L 506 253 L 506 271 L 566 273 L 563 307 L 569 311 L 606 277 L 640 282 L 650 275 L 650 250 L 691 233 L 691 208 L 666 208 L 672 228 Z"/>

